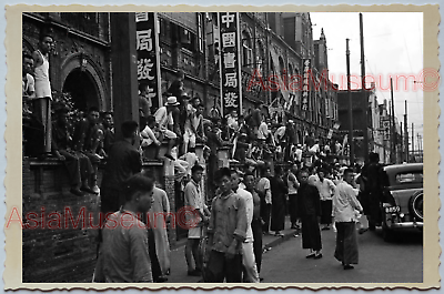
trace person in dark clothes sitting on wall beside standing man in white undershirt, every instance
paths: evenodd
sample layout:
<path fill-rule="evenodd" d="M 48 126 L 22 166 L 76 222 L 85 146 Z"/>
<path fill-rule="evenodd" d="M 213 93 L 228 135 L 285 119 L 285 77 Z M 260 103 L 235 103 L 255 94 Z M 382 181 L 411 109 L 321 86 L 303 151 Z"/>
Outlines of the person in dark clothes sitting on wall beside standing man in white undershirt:
<path fill-rule="evenodd" d="M 88 186 L 88 179 L 93 172 L 90 160 L 81 152 L 71 149 L 72 138 L 68 123 L 68 110 L 60 109 L 56 112 L 57 121 L 52 123 L 52 153 L 63 161 L 71 181 L 70 192 L 82 196 L 83 192 L 94 193 Z"/>

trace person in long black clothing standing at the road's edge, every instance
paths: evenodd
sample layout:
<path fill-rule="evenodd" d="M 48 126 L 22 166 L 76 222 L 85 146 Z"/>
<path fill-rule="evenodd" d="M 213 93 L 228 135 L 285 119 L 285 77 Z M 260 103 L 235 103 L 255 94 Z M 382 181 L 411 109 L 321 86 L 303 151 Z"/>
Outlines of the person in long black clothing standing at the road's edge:
<path fill-rule="evenodd" d="M 309 172 L 299 173 L 297 215 L 302 222 L 302 247 L 310 249 L 307 258 L 322 257 L 321 231 L 317 219 L 321 216 L 321 200 L 317 189 L 309 184 Z"/>

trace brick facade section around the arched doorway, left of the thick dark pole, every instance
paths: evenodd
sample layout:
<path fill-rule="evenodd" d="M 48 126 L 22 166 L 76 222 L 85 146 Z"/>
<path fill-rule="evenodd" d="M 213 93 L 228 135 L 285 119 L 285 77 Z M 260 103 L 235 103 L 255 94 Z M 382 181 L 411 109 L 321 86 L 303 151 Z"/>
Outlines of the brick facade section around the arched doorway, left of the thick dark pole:
<path fill-rule="evenodd" d="M 109 13 L 23 13 L 22 50 L 38 49 L 42 29 L 51 28 L 54 50 L 50 54 L 52 91 L 70 92 L 82 111 L 90 107 L 112 109 Z M 81 85 L 81 87 L 80 87 Z"/>

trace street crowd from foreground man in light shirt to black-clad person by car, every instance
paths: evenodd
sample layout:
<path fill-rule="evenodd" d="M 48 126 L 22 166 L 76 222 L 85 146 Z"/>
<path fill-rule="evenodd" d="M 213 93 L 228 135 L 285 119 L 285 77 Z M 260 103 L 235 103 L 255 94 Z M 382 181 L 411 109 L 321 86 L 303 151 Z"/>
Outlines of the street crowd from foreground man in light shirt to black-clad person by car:
<path fill-rule="evenodd" d="M 376 153 L 370 154 L 362 170 L 320 161 L 310 168 L 297 162 L 284 169 L 275 166 L 274 175 L 266 165 L 259 171 L 250 165 L 244 171 L 218 170 L 210 216 L 201 213 L 205 215 L 202 223 L 209 219 L 206 263 L 203 268 L 189 270 L 189 274 L 201 274 L 204 282 L 211 283 L 259 283 L 263 280 L 262 236 L 272 232 L 283 236 L 286 214 L 291 229 L 302 233 L 302 247 L 309 250 L 306 258 L 323 257 L 321 231 L 333 229 L 334 257 L 344 270 L 353 270 L 359 262 L 357 233 L 374 230 L 371 224 L 377 223 L 373 217 L 380 211 L 372 205 L 382 201 L 384 185 Z M 363 217 L 369 219 L 370 226 L 361 221 Z"/>

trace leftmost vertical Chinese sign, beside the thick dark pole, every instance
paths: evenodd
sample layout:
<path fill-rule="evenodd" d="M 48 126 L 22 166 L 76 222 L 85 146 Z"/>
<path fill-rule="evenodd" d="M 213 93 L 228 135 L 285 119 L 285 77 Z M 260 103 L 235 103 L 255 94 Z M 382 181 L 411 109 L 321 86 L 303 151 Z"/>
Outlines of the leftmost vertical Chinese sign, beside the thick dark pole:
<path fill-rule="evenodd" d="M 152 108 L 162 103 L 160 89 L 159 29 L 155 12 L 135 12 L 139 89 L 147 87 Z"/>

